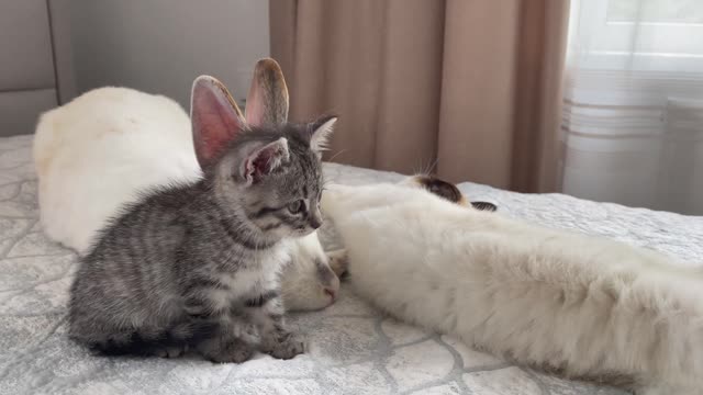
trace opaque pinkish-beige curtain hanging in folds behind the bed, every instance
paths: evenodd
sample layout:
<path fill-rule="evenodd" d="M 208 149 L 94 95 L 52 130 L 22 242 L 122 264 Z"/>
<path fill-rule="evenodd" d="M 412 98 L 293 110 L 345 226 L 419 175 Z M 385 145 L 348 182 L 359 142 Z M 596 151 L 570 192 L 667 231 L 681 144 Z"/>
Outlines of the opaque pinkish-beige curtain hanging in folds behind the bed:
<path fill-rule="evenodd" d="M 341 115 L 334 160 L 557 187 L 568 0 L 270 0 L 291 120 Z"/>

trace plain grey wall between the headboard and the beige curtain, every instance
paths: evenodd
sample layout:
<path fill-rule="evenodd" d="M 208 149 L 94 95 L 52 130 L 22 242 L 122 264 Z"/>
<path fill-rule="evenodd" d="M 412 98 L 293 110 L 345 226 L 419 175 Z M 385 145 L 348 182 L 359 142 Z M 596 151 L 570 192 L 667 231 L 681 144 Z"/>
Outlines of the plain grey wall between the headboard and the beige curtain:
<path fill-rule="evenodd" d="M 268 1 L 72 0 L 78 93 L 125 86 L 188 108 L 201 74 L 246 97 L 258 58 L 269 54 Z"/>

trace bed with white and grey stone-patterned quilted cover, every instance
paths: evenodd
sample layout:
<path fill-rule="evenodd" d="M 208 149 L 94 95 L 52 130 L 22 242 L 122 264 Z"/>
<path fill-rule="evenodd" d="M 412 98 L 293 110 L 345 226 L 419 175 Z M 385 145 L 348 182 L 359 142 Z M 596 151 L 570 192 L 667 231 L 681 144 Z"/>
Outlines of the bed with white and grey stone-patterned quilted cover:
<path fill-rule="evenodd" d="M 91 356 L 66 337 L 77 260 L 42 234 L 31 145 L 31 136 L 0 138 L 0 394 L 624 394 L 515 366 L 398 323 L 344 285 L 332 307 L 291 317 L 310 351 L 290 361 L 259 354 L 236 365 L 196 357 Z M 325 172 L 348 184 L 402 178 L 334 163 L 326 163 Z M 515 217 L 646 246 L 684 261 L 703 257 L 703 217 L 473 183 L 460 189 Z M 322 239 L 336 247 L 330 223 Z"/>

